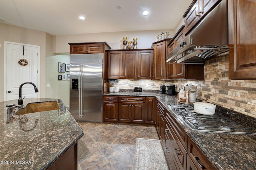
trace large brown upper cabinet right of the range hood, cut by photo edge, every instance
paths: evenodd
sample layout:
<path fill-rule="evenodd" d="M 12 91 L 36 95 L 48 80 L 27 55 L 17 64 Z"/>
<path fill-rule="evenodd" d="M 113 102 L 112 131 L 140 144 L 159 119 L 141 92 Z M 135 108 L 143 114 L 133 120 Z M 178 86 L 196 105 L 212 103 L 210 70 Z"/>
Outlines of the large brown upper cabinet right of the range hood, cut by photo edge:
<path fill-rule="evenodd" d="M 256 1 L 228 0 L 229 78 L 256 79 Z"/>

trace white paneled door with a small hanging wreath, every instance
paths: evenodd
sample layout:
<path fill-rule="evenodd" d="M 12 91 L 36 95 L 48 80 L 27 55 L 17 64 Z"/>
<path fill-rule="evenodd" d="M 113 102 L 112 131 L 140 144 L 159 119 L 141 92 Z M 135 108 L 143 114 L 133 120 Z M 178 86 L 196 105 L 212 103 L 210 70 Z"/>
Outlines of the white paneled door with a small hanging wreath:
<path fill-rule="evenodd" d="M 15 100 L 19 98 L 19 87 L 23 82 L 32 82 L 39 86 L 39 51 L 40 47 L 35 45 L 5 42 L 5 76 L 6 86 L 4 100 Z M 40 92 L 40 88 L 38 87 Z M 38 98 L 34 86 L 25 84 L 22 86 L 22 98 Z"/>

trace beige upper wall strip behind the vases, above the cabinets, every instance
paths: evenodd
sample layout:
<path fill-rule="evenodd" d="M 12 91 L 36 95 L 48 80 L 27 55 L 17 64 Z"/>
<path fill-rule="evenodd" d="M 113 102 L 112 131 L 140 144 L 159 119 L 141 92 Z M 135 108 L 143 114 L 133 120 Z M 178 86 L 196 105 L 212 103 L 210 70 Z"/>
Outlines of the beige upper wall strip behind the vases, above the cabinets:
<path fill-rule="evenodd" d="M 149 49 L 153 42 L 156 42 L 156 36 L 162 32 L 169 32 L 170 37 L 176 33 L 174 29 L 169 30 L 153 30 L 153 31 L 124 31 L 110 33 L 90 33 L 79 35 L 57 35 L 53 36 L 53 53 L 69 53 L 70 46 L 68 43 L 84 43 L 84 42 L 107 42 L 112 49 L 122 49 L 123 37 L 127 37 L 127 41 L 133 41 L 138 38 L 138 49 Z"/>

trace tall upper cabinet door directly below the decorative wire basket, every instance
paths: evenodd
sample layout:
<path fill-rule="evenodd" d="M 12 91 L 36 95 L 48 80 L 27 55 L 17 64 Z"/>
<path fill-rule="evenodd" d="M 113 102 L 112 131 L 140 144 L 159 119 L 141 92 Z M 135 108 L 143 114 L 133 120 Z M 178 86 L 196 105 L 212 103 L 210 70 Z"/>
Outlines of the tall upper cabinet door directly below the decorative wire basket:
<path fill-rule="evenodd" d="M 160 42 L 154 45 L 154 70 L 153 79 L 165 78 L 165 51 L 166 42 Z"/>

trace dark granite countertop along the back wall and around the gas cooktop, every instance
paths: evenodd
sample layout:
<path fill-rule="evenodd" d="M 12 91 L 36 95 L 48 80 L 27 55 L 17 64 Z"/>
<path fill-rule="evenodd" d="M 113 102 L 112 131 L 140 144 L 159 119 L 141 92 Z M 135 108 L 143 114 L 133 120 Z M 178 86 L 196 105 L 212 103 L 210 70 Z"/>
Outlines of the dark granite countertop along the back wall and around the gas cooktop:
<path fill-rule="evenodd" d="M 118 96 L 155 96 L 173 115 L 187 135 L 218 170 L 255 170 L 256 135 L 192 131 L 170 110 L 167 104 L 177 103 L 176 95 L 133 92 L 107 93 Z"/>

